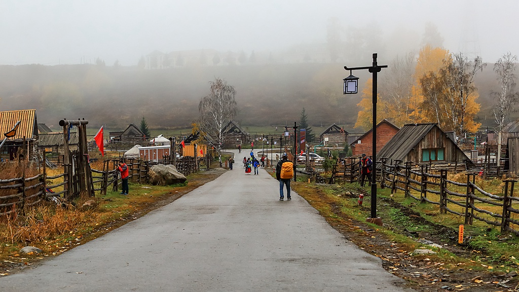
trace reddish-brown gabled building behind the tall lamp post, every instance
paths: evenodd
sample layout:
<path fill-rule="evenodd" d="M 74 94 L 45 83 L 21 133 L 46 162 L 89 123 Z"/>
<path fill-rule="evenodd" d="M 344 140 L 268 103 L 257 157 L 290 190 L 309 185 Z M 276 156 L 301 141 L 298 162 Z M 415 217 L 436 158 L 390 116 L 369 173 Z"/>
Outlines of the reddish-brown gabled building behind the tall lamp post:
<path fill-rule="evenodd" d="M 382 120 L 377 125 L 377 153 L 386 145 L 394 135 L 397 135 L 399 127 L 391 124 L 388 120 Z M 367 131 L 357 140 L 350 143 L 351 155 L 360 156 L 363 153 L 371 155 L 373 153 L 373 129 Z"/>

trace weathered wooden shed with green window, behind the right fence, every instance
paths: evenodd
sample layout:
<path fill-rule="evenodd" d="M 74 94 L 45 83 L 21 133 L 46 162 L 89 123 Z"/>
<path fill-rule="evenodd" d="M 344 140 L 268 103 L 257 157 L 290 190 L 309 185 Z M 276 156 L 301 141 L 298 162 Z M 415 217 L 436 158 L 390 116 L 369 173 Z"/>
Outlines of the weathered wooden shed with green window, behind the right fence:
<path fill-rule="evenodd" d="M 438 124 L 432 123 L 404 125 L 378 152 L 377 158 L 416 164 L 462 163 L 469 160 Z"/>

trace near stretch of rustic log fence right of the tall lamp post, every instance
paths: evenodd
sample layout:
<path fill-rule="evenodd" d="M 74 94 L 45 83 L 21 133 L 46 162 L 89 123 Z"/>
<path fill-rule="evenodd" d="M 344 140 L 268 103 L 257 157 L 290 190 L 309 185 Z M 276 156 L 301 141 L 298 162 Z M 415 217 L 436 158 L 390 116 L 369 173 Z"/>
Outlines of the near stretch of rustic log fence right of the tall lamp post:
<path fill-rule="evenodd" d="M 381 188 L 391 188 L 391 193 L 402 190 L 404 197 L 439 205 L 440 213 L 465 217 L 465 224 L 472 224 L 476 219 L 500 227 L 501 232 L 519 235 L 519 220 L 516 219 L 519 209 L 513 207 L 513 203 L 519 206 L 519 197 L 513 195 L 516 180 L 504 180 L 502 195 L 495 195 L 475 184 L 475 174 L 466 174 L 467 182 L 461 183 L 447 179 L 447 169 L 434 174 L 426 165 L 420 166 L 419 170 L 413 169 L 412 165 L 381 164 L 377 169 Z"/>

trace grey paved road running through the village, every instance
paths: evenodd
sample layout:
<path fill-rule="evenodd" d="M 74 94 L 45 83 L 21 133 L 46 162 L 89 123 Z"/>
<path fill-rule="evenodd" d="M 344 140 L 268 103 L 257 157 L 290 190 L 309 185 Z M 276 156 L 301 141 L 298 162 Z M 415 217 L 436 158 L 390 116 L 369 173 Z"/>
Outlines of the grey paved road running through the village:
<path fill-rule="evenodd" d="M 238 156 L 239 157 L 239 156 Z M 409 291 L 302 197 L 240 163 L 213 182 L 38 267 L 0 291 Z"/>

